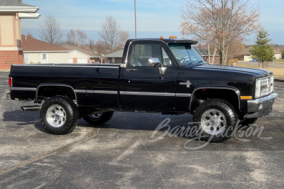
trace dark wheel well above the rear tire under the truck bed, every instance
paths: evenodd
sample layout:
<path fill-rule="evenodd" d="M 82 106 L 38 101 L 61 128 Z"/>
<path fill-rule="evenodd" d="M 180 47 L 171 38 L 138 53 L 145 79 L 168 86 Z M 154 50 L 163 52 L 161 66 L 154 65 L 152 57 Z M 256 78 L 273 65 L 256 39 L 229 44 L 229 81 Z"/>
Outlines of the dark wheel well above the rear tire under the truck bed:
<path fill-rule="evenodd" d="M 67 86 L 41 86 L 38 87 L 37 98 L 38 99 L 48 99 L 49 97 L 54 97 L 56 95 L 67 96 L 72 100 L 76 100 L 75 91 L 72 87 Z"/>

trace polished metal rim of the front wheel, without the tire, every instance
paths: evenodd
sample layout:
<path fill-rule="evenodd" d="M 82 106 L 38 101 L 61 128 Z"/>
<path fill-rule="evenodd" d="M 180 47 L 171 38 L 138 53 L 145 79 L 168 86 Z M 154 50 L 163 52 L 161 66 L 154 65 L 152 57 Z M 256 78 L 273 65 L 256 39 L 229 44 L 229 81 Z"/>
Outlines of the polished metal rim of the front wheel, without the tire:
<path fill-rule="evenodd" d="M 207 134 L 220 134 L 226 129 L 226 117 L 218 109 L 209 109 L 202 114 L 200 125 Z"/>

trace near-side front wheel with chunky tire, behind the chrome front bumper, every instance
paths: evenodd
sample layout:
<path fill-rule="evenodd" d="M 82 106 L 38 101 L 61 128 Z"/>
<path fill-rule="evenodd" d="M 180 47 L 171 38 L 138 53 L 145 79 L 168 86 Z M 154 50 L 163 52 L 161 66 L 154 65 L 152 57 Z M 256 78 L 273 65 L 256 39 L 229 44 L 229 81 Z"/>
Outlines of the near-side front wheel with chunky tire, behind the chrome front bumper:
<path fill-rule="evenodd" d="M 193 114 L 197 134 L 210 142 L 229 139 L 237 120 L 234 107 L 222 99 L 209 99 L 203 102 Z"/>

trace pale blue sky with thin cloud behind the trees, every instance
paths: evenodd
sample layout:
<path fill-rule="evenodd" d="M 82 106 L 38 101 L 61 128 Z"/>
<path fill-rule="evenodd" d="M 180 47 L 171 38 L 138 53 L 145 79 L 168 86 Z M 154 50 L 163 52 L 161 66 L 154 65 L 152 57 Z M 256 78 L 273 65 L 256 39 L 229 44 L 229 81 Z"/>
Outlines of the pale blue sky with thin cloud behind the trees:
<path fill-rule="evenodd" d="M 271 34 L 273 43 L 284 44 L 283 0 L 251 0 L 261 8 L 261 24 Z M 138 38 L 180 36 L 180 10 L 183 0 L 136 0 Z M 134 0 L 23 0 L 38 6 L 38 19 L 22 19 L 22 33 L 28 31 L 38 38 L 39 24 L 45 16 L 54 16 L 62 29 L 80 28 L 97 41 L 97 31 L 107 16 L 114 16 L 121 29 L 134 37 Z M 254 37 L 249 37 L 251 43 Z"/>

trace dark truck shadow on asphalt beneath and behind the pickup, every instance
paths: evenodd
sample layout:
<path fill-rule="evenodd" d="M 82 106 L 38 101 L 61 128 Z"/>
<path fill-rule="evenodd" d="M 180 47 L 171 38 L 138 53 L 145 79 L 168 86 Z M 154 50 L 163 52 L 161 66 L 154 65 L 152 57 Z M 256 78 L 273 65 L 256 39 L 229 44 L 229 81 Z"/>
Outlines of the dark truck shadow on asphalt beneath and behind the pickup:
<path fill-rule="evenodd" d="M 4 112 L 3 121 L 7 121 L 12 127 L 34 126 L 35 129 L 47 133 L 40 123 L 39 112 L 22 112 L 16 109 L 10 112 Z M 92 126 L 84 119 L 78 121 L 77 126 L 82 127 L 99 127 L 102 129 L 128 129 L 128 130 L 145 130 L 145 131 L 167 131 L 174 127 L 186 128 L 190 126 L 191 116 L 183 114 L 180 116 L 162 115 L 159 113 L 131 113 L 131 112 L 115 112 L 114 116 L 106 124 Z"/>

